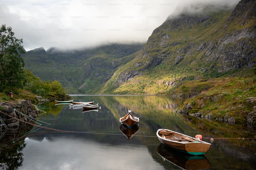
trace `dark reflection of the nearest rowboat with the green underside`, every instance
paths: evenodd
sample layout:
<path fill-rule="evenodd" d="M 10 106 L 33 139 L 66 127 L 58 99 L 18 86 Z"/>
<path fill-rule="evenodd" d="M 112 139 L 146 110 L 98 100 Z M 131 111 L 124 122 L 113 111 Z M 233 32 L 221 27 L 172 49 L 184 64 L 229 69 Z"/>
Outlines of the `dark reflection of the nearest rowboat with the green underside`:
<path fill-rule="evenodd" d="M 207 169 L 211 164 L 204 155 L 191 155 L 185 152 L 177 151 L 160 143 L 157 147 L 157 153 L 174 165 L 183 169 Z"/>

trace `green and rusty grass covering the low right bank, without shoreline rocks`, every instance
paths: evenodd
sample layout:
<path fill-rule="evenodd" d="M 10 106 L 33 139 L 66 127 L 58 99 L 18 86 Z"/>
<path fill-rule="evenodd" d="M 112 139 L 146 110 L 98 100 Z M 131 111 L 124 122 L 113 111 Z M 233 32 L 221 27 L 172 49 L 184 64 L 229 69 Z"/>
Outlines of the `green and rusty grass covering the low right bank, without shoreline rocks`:
<path fill-rule="evenodd" d="M 212 118 L 217 120 L 223 120 L 225 116 L 232 116 L 236 123 L 246 123 L 247 115 L 254 110 L 254 105 L 246 99 L 255 97 L 256 75 L 209 79 L 207 82 L 211 82 L 213 87 L 203 90 L 199 95 L 191 97 L 184 103 L 190 103 L 193 107 L 188 110 L 189 114 L 200 111 L 204 113 L 204 116 L 212 114 Z M 189 83 L 186 85 L 189 86 Z M 192 86 L 193 83 L 190 84 L 189 90 L 193 89 Z M 182 87 L 175 91 L 179 93 L 182 91 Z"/>

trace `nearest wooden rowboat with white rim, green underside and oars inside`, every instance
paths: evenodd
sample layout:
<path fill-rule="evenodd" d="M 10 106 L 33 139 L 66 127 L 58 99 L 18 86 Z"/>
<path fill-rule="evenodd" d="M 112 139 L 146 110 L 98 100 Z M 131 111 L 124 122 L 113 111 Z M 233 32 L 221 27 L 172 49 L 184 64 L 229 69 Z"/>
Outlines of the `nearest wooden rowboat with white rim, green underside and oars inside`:
<path fill-rule="evenodd" d="M 158 129 L 156 136 L 164 145 L 187 152 L 192 155 L 201 155 L 207 152 L 211 144 L 168 129 Z"/>

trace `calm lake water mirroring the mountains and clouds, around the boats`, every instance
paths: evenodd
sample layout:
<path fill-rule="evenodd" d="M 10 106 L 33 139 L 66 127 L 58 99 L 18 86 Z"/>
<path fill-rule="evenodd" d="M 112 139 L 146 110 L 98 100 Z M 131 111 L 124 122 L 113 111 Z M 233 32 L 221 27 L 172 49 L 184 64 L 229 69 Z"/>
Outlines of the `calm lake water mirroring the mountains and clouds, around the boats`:
<path fill-rule="evenodd" d="M 256 169 L 256 142 L 248 130 L 235 129 L 174 112 L 183 98 L 169 96 L 71 96 L 74 101 L 99 103 L 98 111 L 83 112 L 68 104 L 41 103 L 37 123 L 27 134 L 0 140 L 2 169 Z M 101 107 L 101 109 L 100 109 Z M 119 122 L 131 109 L 139 117 L 128 139 Z M 44 112 L 43 112 L 44 111 Z M 40 122 L 42 121 L 42 122 Z M 159 128 L 211 142 L 204 155 L 186 155 L 161 145 Z M 31 130 L 32 129 L 32 130 Z M 57 129 L 57 130 L 52 130 Z M 30 130 L 30 131 L 29 131 Z M 62 130 L 72 131 L 63 132 Z M 10 133 L 10 132 L 9 132 Z M 8 134 L 8 133 L 7 133 Z M 240 138 L 240 139 L 227 139 Z M 4 142 L 3 142 L 4 141 Z"/>

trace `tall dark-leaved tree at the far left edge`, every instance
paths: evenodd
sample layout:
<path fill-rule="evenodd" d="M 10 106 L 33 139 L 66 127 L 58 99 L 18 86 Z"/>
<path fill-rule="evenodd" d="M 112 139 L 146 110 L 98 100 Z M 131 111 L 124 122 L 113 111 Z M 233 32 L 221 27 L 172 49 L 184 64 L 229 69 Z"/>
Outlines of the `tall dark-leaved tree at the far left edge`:
<path fill-rule="evenodd" d="M 11 27 L 0 28 L 0 92 L 22 88 L 26 77 L 24 59 L 25 51 L 22 39 L 14 37 Z"/>

